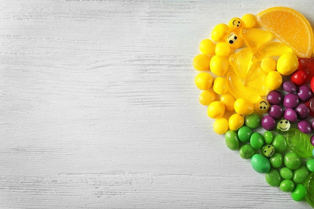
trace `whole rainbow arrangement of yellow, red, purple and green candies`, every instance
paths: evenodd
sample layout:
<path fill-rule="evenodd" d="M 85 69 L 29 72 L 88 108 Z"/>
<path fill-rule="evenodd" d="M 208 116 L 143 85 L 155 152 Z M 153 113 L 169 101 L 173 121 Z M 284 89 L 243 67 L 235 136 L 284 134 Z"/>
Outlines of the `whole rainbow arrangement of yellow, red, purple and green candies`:
<path fill-rule="evenodd" d="M 270 186 L 314 208 L 313 32 L 275 7 L 218 24 L 193 60 L 213 130 Z"/>

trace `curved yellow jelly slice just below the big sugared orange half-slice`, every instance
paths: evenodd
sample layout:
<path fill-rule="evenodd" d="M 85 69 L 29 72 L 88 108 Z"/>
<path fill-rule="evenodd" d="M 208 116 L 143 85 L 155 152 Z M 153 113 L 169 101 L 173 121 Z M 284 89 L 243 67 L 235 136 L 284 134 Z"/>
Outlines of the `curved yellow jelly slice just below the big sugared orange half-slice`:
<path fill-rule="evenodd" d="M 292 52 L 292 49 L 287 45 L 280 42 L 267 42 L 252 53 L 251 61 L 256 63 L 265 57 L 280 57 L 287 52 Z"/>

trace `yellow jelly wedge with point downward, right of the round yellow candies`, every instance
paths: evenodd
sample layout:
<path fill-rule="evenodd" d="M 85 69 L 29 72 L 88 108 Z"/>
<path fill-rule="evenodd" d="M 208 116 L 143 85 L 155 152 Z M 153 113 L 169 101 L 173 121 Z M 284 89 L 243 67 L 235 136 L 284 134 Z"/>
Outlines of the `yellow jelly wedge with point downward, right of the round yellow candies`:
<path fill-rule="evenodd" d="M 233 67 L 235 74 L 244 79 L 250 65 L 252 51 L 248 48 L 243 49 L 229 57 L 229 63 Z"/>

